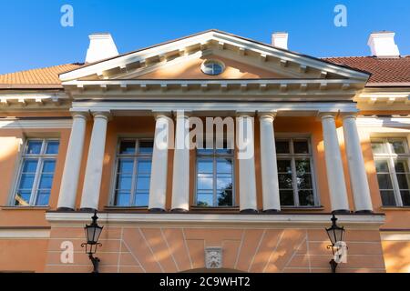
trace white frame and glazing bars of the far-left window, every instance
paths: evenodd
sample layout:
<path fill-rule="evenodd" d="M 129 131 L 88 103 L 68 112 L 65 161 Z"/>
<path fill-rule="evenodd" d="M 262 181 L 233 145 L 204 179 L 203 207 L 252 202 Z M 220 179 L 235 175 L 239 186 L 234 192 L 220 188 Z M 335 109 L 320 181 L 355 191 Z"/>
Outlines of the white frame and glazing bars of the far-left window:
<path fill-rule="evenodd" d="M 26 154 L 28 143 L 32 142 L 32 141 L 41 141 L 42 142 L 40 154 L 33 154 L 33 155 Z M 18 165 L 18 172 L 17 172 L 17 175 L 15 176 L 15 184 L 13 186 L 12 195 L 10 196 L 10 201 L 8 203 L 9 206 L 13 206 L 13 207 L 47 207 L 47 206 L 49 206 L 49 203 L 50 203 L 49 200 L 48 200 L 48 205 L 47 206 L 36 206 L 38 184 L 40 182 L 40 177 L 41 177 L 41 174 L 42 174 L 41 170 L 43 168 L 44 161 L 49 160 L 49 159 L 54 159 L 55 162 L 57 161 L 58 153 L 57 154 L 46 154 L 45 153 L 46 152 L 46 145 L 49 142 L 58 142 L 58 150 L 59 150 L 59 146 L 61 146 L 59 138 L 26 138 L 26 140 L 24 142 L 24 146 L 23 146 L 23 151 L 22 151 L 22 153 L 19 157 L 20 161 L 19 161 L 19 165 Z M 35 175 L 35 179 L 34 179 L 34 182 L 33 182 L 33 187 L 31 189 L 30 201 L 28 203 L 28 206 L 16 206 L 15 205 L 16 191 L 18 190 L 18 186 L 20 185 L 21 176 L 23 174 L 23 165 L 24 165 L 26 159 L 37 159 L 38 160 L 37 167 L 36 167 L 36 175 Z M 52 182 L 53 184 L 54 184 L 55 174 L 56 174 L 56 169 L 53 173 L 53 182 Z M 50 193 L 50 196 L 51 196 L 51 193 Z"/>

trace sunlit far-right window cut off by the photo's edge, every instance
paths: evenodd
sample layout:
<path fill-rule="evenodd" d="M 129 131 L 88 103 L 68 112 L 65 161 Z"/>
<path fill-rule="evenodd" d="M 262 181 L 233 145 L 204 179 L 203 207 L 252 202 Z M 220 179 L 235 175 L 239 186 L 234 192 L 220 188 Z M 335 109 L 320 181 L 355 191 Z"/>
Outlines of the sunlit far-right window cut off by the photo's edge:
<path fill-rule="evenodd" d="M 409 148 L 404 138 L 372 140 L 374 164 L 384 206 L 410 206 Z"/>

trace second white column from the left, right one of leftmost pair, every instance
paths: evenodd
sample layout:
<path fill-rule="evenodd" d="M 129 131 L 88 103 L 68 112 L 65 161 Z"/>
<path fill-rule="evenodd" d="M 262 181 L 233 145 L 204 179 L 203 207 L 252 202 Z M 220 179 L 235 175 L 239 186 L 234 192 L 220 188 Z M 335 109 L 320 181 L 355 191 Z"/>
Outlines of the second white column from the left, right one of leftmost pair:
<path fill-rule="evenodd" d="M 81 209 L 98 209 L 109 112 L 95 112 L 88 149 Z"/>

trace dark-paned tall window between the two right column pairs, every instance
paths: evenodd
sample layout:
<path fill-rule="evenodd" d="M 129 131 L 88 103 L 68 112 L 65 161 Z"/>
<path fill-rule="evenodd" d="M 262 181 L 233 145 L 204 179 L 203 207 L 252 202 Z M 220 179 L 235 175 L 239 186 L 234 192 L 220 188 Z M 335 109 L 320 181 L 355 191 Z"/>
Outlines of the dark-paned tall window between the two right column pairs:
<path fill-rule="evenodd" d="M 276 140 L 282 206 L 314 206 L 313 158 L 308 139 Z"/>

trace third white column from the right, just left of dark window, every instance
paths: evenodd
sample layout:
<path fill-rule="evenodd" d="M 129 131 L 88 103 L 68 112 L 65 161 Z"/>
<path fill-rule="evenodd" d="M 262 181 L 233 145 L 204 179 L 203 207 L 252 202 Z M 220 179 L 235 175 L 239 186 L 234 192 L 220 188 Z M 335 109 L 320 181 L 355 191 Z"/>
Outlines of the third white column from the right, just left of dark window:
<path fill-rule="evenodd" d="M 261 183 L 264 211 L 281 211 L 278 165 L 273 129 L 275 113 L 259 114 L 261 127 Z"/>

